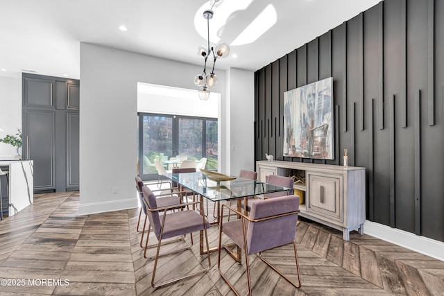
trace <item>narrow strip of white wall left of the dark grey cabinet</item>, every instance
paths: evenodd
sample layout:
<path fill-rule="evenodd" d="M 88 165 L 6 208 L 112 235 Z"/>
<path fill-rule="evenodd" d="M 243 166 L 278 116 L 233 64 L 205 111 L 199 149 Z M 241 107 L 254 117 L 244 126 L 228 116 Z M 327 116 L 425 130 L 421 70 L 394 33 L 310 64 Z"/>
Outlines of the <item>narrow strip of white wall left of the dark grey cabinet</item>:
<path fill-rule="evenodd" d="M 0 138 L 22 129 L 22 78 L 0 76 Z M 0 143 L 0 158 L 17 155 L 15 147 Z"/>

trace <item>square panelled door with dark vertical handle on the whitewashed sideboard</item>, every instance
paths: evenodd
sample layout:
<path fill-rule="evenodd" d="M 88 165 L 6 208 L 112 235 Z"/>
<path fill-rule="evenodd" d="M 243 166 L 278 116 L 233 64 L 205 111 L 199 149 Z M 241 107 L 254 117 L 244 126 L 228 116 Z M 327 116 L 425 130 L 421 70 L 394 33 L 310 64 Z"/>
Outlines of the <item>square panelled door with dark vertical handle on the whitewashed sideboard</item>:
<path fill-rule="evenodd" d="M 343 220 L 341 175 L 308 174 L 307 211 L 334 220 Z"/>

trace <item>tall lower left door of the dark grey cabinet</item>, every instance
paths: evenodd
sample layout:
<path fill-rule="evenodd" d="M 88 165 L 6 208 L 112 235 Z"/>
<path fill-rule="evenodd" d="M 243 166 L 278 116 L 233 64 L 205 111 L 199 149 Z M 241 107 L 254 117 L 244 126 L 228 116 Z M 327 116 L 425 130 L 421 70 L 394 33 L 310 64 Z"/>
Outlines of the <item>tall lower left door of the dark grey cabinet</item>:
<path fill-rule="evenodd" d="M 55 113 L 24 110 L 24 115 L 24 157 L 34 161 L 34 190 L 53 190 Z"/>

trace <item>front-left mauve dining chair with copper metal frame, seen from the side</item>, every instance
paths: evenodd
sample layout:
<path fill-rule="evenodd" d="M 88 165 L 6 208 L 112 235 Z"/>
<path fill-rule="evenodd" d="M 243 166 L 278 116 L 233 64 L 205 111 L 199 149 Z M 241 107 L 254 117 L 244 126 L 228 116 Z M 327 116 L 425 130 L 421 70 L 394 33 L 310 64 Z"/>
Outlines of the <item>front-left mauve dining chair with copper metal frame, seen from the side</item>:
<path fill-rule="evenodd" d="M 153 276 L 151 277 L 151 286 L 153 288 L 159 288 L 160 286 L 164 286 L 167 284 L 175 283 L 176 281 L 180 281 L 181 279 L 186 279 L 187 277 L 193 277 L 194 275 L 199 275 L 200 273 L 207 272 L 210 270 L 211 261 L 210 261 L 210 248 L 208 245 L 208 236 L 207 236 L 207 228 L 210 227 L 210 223 L 207 222 L 205 216 L 203 215 L 203 206 L 201 202 L 193 202 L 192 204 L 200 203 L 200 214 L 194 210 L 184 210 L 184 211 L 176 211 L 176 212 L 167 212 L 171 207 L 159 207 L 157 204 L 158 199 L 155 198 L 153 192 L 147 187 L 142 187 L 142 192 L 144 194 L 144 204 L 146 206 L 146 213 L 150 220 L 150 224 L 153 227 L 153 232 L 155 237 L 157 238 L 157 250 L 155 253 L 155 261 L 153 267 Z M 160 215 L 160 211 L 163 211 L 162 215 Z M 190 247 L 185 247 L 180 250 L 174 250 L 171 252 L 166 252 L 160 254 L 160 246 L 162 245 L 162 240 L 167 238 L 173 238 L 176 236 L 182 236 L 188 233 L 197 232 L 203 230 L 205 236 L 205 243 L 207 245 L 207 259 L 208 259 L 208 267 L 203 268 L 201 270 L 195 272 L 187 272 L 186 275 L 175 277 L 174 279 L 167 279 L 160 283 L 155 283 L 155 273 L 157 270 L 157 263 L 159 261 L 160 256 L 167 256 L 169 254 L 176 254 L 178 252 L 184 252 L 185 250 L 189 250 Z M 191 245 L 192 241 L 191 234 Z M 148 238 L 146 236 L 146 243 L 148 245 Z M 144 251 L 144 256 L 146 257 L 146 248 Z M 192 255 L 194 257 L 194 255 Z M 171 261 L 170 261 L 171 262 Z M 170 265 L 171 263 L 169 263 Z"/>

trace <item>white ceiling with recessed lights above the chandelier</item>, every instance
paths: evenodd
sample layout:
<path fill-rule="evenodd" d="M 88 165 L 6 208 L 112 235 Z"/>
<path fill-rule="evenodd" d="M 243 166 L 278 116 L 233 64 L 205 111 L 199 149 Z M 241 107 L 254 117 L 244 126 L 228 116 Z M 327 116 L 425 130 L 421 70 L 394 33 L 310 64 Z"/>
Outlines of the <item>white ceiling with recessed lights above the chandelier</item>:
<path fill-rule="evenodd" d="M 218 29 L 212 28 L 218 10 L 239 1 L 225 0 L 213 9 L 210 31 Z M 260 69 L 379 1 L 254 0 L 230 15 L 219 31 L 222 41 L 233 40 L 269 3 L 277 12 L 276 24 L 255 42 L 232 46 L 230 53 L 238 58 L 218 60 L 216 68 Z M 7 70 L 0 75 L 31 72 L 78 79 L 80 42 L 203 64 L 197 47 L 207 41 L 194 27 L 202 6 L 210 8 L 209 1 L 0 0 L 0 69 Z M 128 31 L 119 30 L 122 24 Z"/>

